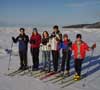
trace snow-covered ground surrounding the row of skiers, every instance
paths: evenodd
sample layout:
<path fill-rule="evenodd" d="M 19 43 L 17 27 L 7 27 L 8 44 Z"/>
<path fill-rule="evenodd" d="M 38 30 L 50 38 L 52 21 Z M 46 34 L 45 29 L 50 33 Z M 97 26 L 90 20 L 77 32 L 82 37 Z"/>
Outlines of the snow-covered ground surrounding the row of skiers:
<path fill-rule="evenodd" d="M 60 29 L 61 32 L 67 33 L 72 41 L 75 40 L 77 33 L 83 35 L 83 39 L 91 46 L 93 42 L 97 43 L 97 48 L 94 51 L 94 56 L 91 58 L 91 63 L 85 61 L 83 64 L 83 72 L 86 73 L 89 69 L 88 77 L 86 78 L 86 86 L 82 87 L 84 80 L 81 80 L 75 84 L 72 84 L 65 88 L 60 88 L 57 84 L 43 83 L 36 78 L 29 76 L 15 77 L 5 76 L 8 73 L 9 55 L 5 52 L 5 49 L 9 49 L 11 46 L 11 37 L 18 35 L 19 28 L 0 28 L 0 90 L 100 90 L 100 29 Z M 52 32 L 52 28 L 39 28 L 39 32 L 42 33 L 47 30 Z M 26 28 L 26 33 L 30 36 L 32 28 Z M 30 45 L 29 45 L 30 46 Z M 87 53 L 89 56 L 91 52 Z M 40 62 L 41 62 L 40 53 Z M 30 50 L 28 52 L 28 63 L 32 65 Z M 17 45 L 13 46 L 12 61 L 10 63 L 10 71 L 14 71 L 19 67 L 19 57 Z M 74 70 L 74 69 L 72 69 Z"/>

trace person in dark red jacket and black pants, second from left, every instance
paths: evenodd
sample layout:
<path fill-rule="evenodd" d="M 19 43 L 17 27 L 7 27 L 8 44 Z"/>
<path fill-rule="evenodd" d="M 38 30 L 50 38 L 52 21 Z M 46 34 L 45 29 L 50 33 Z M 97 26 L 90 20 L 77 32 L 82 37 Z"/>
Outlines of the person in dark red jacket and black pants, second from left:
<path fill-rule="evenodd" d="M 30 38 L 31 44 L 31 55 L 33 66 L 32 70 L 36 71 L 39 69 L 39 48 L 41 43 L 41 35 L 38 33 L 37 28 L 33 28 L 32 36 Z"/>

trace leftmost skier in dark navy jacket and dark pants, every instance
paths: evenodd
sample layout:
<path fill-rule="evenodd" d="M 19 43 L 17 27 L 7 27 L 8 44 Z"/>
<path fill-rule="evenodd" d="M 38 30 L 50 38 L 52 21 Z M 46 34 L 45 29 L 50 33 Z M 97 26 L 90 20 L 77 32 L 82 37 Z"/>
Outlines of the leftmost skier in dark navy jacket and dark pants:
<path fill-rule="evenodd" d="M 20 34 L 15 38 L 12 37 L 14 43 L 19 42 L 19 56 L 20 56 L 20 70 L 25 70 L 27 66 L 27 51 L 28 51 L 28 42 L 29 37 L 25 34 L 25 29 L 20 28 Z"/>

